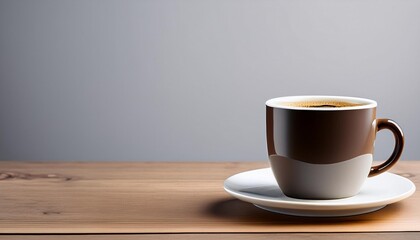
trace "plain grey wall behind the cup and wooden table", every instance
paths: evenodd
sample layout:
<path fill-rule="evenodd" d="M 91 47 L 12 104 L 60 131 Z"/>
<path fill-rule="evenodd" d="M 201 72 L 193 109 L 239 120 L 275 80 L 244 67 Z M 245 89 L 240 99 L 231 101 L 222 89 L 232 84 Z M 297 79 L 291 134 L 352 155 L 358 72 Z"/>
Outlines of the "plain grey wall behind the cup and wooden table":
<path fill-rule="evenodd" d="M 284 95 L 378 101 L 420 156 L 420 1 L 0 0 L 0 159 L 266 160 Z M 381 132 L 376 159 L 391 152 Z"/>

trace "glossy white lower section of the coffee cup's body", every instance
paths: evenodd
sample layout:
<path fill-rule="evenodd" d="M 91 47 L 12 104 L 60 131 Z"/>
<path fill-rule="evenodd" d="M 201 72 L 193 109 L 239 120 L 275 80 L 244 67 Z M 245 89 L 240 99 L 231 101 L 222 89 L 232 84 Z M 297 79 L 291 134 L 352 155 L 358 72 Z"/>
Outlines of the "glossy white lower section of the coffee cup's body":
<path fill-rule="evenodd" d="M 356 195 L 366 181 L 372 161 L 373 154 L 331 164 L 311 164 L 278 155 L 270 156 L 271 169 L 276 169 L 272 172 L 283 192 L 296 198 L 312 199 Z"/>

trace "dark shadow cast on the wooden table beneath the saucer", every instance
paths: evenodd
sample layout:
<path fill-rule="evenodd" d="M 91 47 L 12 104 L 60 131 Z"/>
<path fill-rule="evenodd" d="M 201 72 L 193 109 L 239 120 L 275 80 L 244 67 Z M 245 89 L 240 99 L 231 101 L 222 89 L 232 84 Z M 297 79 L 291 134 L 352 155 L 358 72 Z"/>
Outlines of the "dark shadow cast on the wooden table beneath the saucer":
<path fill-rule="evenodd" d="M 279 213 L 273 213 L 257 208 L 251 203 L 243 202 L 237 199 L 221 199 L 210 203 L 205 213 L 213 217 L 240 221 L 250 224 L 310 224 L 310 225 L 327 225 L 327 224 L 346 224 L 349 222 L 372 222 L 375 220 L 383 220 L 395 216 L 399 212 L 401 204 L 394 203 L 376 212 L 361 214 L 348 217 L 295 217 Z"/>

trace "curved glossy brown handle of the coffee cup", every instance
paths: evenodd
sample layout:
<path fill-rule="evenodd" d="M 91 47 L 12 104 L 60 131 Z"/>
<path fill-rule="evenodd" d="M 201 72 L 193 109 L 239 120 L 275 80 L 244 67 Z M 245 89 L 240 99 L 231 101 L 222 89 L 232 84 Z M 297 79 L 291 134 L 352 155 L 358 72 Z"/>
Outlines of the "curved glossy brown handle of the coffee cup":
<path fill-rule="evenodd" d="M 392 152 L 391 156 L 383 162 L 382 164 L 379 164 L 377 166 L 372 166 L 370 168 L 369 177 L 373 177 L 376 175 L 379 175 L 388 169 L 390 169 L 394 164 L 400 159 L 402 150 L 404 148 L 404 134 L 398 126 L 396 122 L 394 122 L 391 119 L 377 119 L 376 120 L 376 132 L 381 131 L 382 129 L 388 129 L 391 130 L 391 132 L 394 134 L 395 138 L 395 147 L 394 151 Z"/>

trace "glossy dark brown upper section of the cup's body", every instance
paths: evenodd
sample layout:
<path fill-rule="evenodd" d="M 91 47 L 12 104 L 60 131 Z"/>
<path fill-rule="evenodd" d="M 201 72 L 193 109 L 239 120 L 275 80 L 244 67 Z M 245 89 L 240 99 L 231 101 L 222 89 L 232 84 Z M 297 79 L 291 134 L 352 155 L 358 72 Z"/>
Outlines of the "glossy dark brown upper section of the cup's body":
<path fill-rule="evenodd" d="M 373 153 L 376 108 L 347 111 L 266 108 L 269 156 L 331 164 Z"/>

